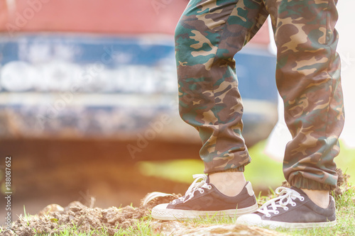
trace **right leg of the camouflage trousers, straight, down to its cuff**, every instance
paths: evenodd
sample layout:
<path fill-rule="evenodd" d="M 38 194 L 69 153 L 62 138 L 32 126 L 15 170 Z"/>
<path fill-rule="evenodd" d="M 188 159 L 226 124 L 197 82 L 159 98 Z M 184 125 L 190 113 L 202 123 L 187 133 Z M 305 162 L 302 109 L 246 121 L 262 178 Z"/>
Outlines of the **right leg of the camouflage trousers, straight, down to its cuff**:
<path fill-rule="evenodd" d="M 276 83 L 293 140 L 283 172 L 292 186 L 329 190 L 344 126 L 337 0 L 266 0 L 278 47 Z"/>

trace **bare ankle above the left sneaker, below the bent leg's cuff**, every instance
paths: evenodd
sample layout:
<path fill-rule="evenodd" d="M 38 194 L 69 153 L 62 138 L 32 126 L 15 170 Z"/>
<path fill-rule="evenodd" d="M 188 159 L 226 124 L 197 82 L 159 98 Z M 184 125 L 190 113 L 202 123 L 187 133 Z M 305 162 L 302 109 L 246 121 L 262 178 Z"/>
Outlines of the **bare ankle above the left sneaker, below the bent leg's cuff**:
<path fill-rule="evenodd" d="M 236 196 L 244 188 L 246 179 L 243 172 L 217 172 L 209 174 L 209 183 L 226 196 Z"/>

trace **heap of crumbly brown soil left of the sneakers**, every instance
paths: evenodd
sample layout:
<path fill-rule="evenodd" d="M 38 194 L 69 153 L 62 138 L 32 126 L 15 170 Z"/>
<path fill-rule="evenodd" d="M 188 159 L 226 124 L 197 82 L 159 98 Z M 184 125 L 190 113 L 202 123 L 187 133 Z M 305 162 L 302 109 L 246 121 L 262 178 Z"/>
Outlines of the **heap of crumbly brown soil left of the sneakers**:
<path fill-rule="evenodd" d="M 141 206 L 138 208 L 132 206 L 125 206 L 124 208 L 112 206 L 107 209 L 93 208 L 93 201 L 90 203 L 91 207 L 85 206 L 79 201 L 74 201 L 65 208 L 57 204 L 51 204 L 36 215 L 21 215 L 13 223 L 12 231 L 6 230 L 0 235 L 54 235 L 63 231 L 70 232 L 73 230 L 73 225 L 77 229 L 76 232 L 91 233 L 95 229 L 98 232 L 106 230 L 107 235 L 114 235 L 119 231 L 119 228 L 135 227 L 136 221 L 150 215 L 154 206 L 160 203 L 169 203 L 180 196 L 180 194 L 173 194 L 154 198 L 144 206 L 142 200 Z M 75 234 L 72 232 L 70 235 Z M 95 233 L 92 235 L 95 235 Z"/>

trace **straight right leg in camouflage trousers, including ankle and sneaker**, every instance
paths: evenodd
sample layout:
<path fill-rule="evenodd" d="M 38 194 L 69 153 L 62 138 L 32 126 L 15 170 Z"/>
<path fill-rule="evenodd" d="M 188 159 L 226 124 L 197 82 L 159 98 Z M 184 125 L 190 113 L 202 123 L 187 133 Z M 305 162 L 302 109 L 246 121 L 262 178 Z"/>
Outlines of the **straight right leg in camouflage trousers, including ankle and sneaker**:
<path fill-rule="evenodd" d="M 315 227 L 336 223 L 334 157 L 344 125 L 336 1 L 265 0 L 278 47 L 276 82 L 293 140 L 283 172 L 291 189 L 238 223 L 271 227 Z"/>

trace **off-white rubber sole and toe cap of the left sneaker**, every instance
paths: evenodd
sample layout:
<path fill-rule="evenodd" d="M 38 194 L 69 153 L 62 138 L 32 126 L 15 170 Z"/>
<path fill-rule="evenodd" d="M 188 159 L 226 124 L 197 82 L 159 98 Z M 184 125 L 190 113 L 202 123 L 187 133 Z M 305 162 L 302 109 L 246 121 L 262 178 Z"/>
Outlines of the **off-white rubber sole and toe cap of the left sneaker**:
<path fill-rule="evenodd" d="M 152 209 L 152 217 L 158 220 L 188 220 L 207 216 L 230 216 L 253 213 L 258 210 L 258 203 L 253 206 L 231 210 L 178 210 L 166 208 L 168 203 L 160 204 Z"/>

